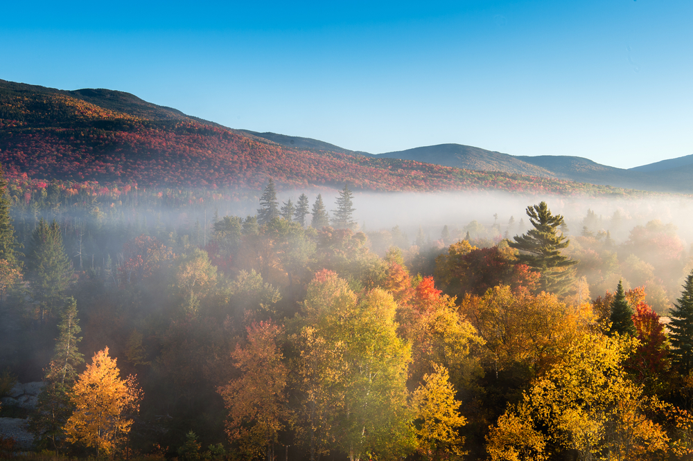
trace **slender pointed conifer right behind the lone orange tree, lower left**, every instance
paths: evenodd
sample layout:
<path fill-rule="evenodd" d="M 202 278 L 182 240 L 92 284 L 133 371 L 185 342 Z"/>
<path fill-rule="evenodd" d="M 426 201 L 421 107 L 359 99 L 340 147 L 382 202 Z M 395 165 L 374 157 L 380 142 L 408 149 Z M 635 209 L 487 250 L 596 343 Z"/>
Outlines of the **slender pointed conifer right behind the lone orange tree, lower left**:
<path fill-rule="evenodd" d="M 64 429 L 67 419 L 72 415 L 71 387 L 77 377 L 76 367 L 84 362 L 77 343 L 82 338 L 77 303 L 68 298 L 62 311 L 62 321 L 58 325 L 60 336 L 55 343 L 55 354 L 46 371 L 46 386 L 38 397 L 36 412 L 31 417 L 29 428 L 34 434 L 37 446 L 59 451 L 64 442 Z"/>

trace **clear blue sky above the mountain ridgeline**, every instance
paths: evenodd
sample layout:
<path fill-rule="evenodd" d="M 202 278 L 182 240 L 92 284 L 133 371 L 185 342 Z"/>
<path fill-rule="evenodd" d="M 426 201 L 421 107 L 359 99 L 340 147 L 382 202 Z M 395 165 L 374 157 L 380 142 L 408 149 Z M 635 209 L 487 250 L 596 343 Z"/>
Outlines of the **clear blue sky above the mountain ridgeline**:
<path fill-rule="evenodd" d="M 693 154 L 693 2 L 3 2 L 0 79 L 374 154 Z"/>

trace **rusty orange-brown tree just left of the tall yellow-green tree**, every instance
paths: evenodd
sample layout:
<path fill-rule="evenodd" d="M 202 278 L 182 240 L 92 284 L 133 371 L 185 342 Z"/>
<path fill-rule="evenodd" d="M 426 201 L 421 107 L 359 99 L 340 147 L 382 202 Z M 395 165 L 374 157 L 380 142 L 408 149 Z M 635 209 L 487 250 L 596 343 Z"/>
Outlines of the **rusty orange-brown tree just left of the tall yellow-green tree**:
<path fill-rule="evenodd" d="M 277 347 L 280 332 L 271 322 L 248 327 L 247 346 L 231 353 L 243 375 L 218 388 L 229 410 L 229 439 L 240 442 L 249 458 L 264 451 L 265 459 L 272 461 L 272 445 L 287 417 L 288 370 Z"/>

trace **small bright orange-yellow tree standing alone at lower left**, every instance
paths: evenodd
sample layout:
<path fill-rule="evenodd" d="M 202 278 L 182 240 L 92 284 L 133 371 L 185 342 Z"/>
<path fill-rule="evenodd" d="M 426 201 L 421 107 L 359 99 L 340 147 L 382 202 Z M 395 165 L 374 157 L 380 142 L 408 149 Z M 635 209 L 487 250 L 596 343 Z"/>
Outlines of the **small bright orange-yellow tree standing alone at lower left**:
<path fill-rule="evenodd" d="M 109 454 L 125 440 L 132 426 L 128 415 L 139 410 L 141 390 L 134 376 L 121 379 L 119 375 L 108 347 L 94 354 L 73 388 L 75 409 L 64 427 L 68 442 Z"/>

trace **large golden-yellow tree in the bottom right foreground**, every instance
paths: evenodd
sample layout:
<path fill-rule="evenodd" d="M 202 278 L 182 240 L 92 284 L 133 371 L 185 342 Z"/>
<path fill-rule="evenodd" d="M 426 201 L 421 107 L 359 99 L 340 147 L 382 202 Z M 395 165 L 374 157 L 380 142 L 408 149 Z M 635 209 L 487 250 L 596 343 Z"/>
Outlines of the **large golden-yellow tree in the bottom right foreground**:
<path fill-rule="evenodd" d="M 574 450 L 580 460 L 631 460 L 667 450 L 663 429 L 647 418 L 650 403 L 642 386 L 627 379 L 622 361 L 633 348 L 630 338 L 586 334 L 568 347 L 563 359 L 525 394 L 517 422 L 532 433 L 527 422 L 543 426 L 548 440 Z M 527 451 L 536 437 L 515 437 L 509 411 L 491 431 L 489 447 L 507 444 L 509 453 Z M 520 426 L 522 426 L 520 424 Z M 509 441 L 515 440 L 508 444 Z M 538 448 L 541 444 L 534 444 Z M 489 450 L 491 451 L 491 450 Z M 539 453 L 543 456 L 543 453 Z M 493 460 L 513 460 L 498 452 Z"/>

